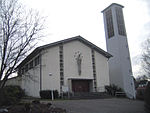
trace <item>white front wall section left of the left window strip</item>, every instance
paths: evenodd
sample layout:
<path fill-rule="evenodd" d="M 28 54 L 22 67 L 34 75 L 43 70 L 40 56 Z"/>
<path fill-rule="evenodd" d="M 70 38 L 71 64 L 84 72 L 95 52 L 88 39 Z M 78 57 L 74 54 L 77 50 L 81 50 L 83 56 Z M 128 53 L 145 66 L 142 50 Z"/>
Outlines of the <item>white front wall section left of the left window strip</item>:
<path fill-rule="evenodd" d="M 42 90 L 60 90 L 59 46 L 42 53 Z M 49 76 L 49 74 L 52 76 Z"/>

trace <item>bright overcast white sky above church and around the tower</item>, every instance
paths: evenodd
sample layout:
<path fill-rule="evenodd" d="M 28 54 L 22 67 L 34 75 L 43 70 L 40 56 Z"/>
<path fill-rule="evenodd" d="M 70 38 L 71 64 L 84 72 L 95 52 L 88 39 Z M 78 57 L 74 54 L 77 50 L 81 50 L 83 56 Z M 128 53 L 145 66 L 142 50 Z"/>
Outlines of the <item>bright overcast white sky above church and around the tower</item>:
<path fill-rule="evenodd" d="M 103 14 L 111 3 L 124 6 L 132 70 L 135 77 L 140 70 L 141 43 L 149 37 L 149 0 L 21 0 L 26 8 L 32 8 L 46 17 L 45 37 L 39 45 L 82 36 L 106 50 Z"/>

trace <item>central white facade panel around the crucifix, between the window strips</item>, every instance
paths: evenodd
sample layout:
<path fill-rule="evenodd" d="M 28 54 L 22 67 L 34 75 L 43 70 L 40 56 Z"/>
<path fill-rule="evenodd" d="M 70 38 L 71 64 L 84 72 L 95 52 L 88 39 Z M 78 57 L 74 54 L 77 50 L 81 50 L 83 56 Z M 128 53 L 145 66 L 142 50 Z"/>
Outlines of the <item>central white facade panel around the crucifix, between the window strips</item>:
<path fill-rule="evenodd" d="M 81 75 L 78 74 L 75 52 L 82 53 Z M 79 41 L 64 44 L 65 85 L 69 78 L 93 79 L 91 49 Z"/>

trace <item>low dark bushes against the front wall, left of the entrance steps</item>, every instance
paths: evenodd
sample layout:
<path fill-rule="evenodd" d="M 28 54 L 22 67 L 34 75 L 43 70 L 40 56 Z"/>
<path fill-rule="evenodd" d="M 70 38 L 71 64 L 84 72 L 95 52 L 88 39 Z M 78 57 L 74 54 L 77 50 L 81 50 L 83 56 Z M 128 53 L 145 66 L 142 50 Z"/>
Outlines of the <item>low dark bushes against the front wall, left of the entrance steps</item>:
<path fill-rule="evenodd" d="M 51 92 L 52 92 L 51 90 L 41 90 L 40 91 L 40 97 L 42 99 L 51 99 L 52 98 Z M 59 97 L 58 91 L 54 90 L 53 95 L 54 95 L 54 98 L 58 98 Z"/>

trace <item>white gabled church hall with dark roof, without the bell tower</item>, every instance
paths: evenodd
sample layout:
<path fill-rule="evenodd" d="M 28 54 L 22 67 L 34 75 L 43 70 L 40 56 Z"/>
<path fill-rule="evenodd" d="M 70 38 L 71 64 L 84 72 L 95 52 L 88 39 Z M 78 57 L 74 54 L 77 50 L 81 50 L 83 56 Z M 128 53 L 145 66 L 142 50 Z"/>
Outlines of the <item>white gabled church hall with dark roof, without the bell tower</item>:
<path fill-rule="evenodd" d="M 18 66 L 20 85 L 27 95 L 40 90 L 104 92 L 110 85 L 109 53 L 76 36 L 36 48 Z"/>

